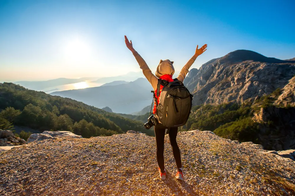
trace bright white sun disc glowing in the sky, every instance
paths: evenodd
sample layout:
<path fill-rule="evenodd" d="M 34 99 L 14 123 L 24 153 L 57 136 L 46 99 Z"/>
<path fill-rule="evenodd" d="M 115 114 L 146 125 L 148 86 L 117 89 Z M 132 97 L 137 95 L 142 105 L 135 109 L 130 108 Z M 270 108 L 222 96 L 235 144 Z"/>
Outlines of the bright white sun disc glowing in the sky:
<path fill-rule="evenodd" d="M 65 60 L 69 63 L 82 63 L 89 59 L 90 47 L 81 38 L 73 38 L 65 43 Z"/>

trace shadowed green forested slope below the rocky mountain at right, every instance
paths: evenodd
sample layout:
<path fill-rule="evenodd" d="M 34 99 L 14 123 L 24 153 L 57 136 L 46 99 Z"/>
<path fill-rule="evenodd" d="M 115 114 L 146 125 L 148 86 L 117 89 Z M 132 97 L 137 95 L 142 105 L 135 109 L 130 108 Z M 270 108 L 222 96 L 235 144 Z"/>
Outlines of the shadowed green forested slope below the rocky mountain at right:
<path fill-rule="evenodd" d="M 289 140 L 294 138 L 295 107 L 275 105 L 280 94 L 281 89 L 277 89 L 254 103 L 194 106 L 188 122 L 180 129 L 210 130 L 223 138 L 252 141 L 270 150 L 294 148 Z"/>

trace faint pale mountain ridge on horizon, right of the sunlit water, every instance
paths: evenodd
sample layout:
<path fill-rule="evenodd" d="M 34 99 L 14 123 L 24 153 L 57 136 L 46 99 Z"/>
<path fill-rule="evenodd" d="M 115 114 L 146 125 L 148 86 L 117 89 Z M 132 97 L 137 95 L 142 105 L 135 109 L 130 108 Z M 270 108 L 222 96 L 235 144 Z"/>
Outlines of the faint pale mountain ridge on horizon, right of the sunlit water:
<path fill-rule="evenodd" d="M 112 77 L 104 77 L 104 78 L 99 78 L 96 81 L 96 83 L 110 83 L 110 82 L 114 82 L 114 81 L 134 81 L 137 78 L 141 78 L 143 77 L 143 73 L 142 71 L 140 72 L 129 72 L 127 74 L 121 75 L 121 76 L 112 76 Z"/>

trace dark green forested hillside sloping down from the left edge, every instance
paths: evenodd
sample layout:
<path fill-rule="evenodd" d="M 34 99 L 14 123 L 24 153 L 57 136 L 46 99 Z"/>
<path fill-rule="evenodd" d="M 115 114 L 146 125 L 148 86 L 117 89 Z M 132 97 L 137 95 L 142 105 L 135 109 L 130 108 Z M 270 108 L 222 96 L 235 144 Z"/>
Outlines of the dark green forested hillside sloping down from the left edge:
<path fill-rule="evenodd" d="M 0 83 L 0 128 L 12 125 L 43 130 L 70 130 L 83 137 L 112 135 L 127 130 L 150 135 L 139 121 L 13 83 Z"/>

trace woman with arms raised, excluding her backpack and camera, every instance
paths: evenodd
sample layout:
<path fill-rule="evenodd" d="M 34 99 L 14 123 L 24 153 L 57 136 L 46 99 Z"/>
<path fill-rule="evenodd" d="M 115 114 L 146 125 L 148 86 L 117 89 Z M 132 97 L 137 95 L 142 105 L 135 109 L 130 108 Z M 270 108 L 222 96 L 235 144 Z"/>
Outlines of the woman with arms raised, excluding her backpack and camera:
<path fill-rule="evenodd" d="M 127 48 L 133 53 L 135 56 L 140 68 L 142 69 L 143 74 L 148 79 L 150 84 L 152 85 L 155 94 L 157 91 L 157 84 L 158 84 L 158 78 L 162 80 L 166 80 L 168 82 L 172 82 L 172 76 L 174 73 L 174 67 L 173 67 L 173 61 L 170 61 L 166 59 L 165 61 L 160 60 L 160 63 L 157 67 L 157 71 L 155 75 L 150 71 L 150 68 L 148 67 L 147 63 L 143 58 L 135 51 L 135 49 L 132 46 L 132 41 L 128 40 L 128 38 L 125 36 L 125 43 Z M 183 66 L 181 69 L 179 75 L 177 76 L 177 79 L 181 82 L 183 82 L 186 74 L 189 72 L 189 68 L 194 63 L 196 58 L 201 55 L 204 51 L 207 49 L 207 44 L 202 46 L 200 49 L 198 49 L 198 46 L 196 48 L 196 52 L 194 56 Z M 162 90 L 163 86 L 160 86 L 160 92 Z M 160 96 L 159 96 L 160 97 Z M 159 97 L 156 97 L 159 103 Z M 156 104 L 154 104 L 153 113 L 155 114 Z M 181 156 L 180 156 L 180 150 L 178 148 L 177 142 L 176 142 L 176 136 L 178 127 L 168 128 L 164 127 L 161 123 L 158 123 L 156 126 L 154 126 L 155 136 L 156 136 L 156 145 L 157 145 L 157 162 L 159 165 L 159 173 L 160 178 L 162 180 L 166 179 L 166 170 L 164 167 L 164 136 L 165 136 L 165 129 L 169 130 L 169 139 L 172 147 L 173 156 L 177 165 L 177 172 L 176 172 L 176 179 L 183 180 L 183 172 L 182 172 L 182 165 L 181 165 Z"/>

